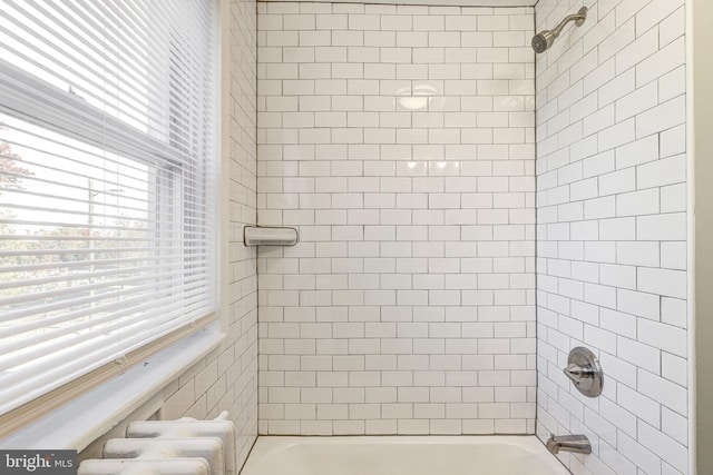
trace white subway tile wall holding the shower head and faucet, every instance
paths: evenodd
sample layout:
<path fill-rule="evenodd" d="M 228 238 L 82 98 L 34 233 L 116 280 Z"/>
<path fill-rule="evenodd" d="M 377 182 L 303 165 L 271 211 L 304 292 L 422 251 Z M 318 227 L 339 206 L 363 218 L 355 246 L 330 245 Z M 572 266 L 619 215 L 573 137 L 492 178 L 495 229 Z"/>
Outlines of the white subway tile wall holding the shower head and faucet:
<path fill-rule="evenodd" d="M 537 434 L 586 434 L 575 474 L 688 474 L 684 0 L 540 0 Z M 563 375 L 585 345 L 589 399 Z"/>

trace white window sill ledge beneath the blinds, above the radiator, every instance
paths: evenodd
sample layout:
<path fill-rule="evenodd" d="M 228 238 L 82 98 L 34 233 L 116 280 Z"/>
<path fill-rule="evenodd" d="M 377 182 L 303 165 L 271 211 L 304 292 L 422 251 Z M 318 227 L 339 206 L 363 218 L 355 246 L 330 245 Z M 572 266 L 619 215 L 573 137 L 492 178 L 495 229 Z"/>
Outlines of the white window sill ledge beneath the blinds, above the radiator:
<path fill-rule="evenodd" d="M 217 324 L 188 336 L 126 373 L 0 439 L 2 448 L 77 449 L 155 398 L 225 339 Z M 166 395 L 166 397 L 169 395 Z"/>

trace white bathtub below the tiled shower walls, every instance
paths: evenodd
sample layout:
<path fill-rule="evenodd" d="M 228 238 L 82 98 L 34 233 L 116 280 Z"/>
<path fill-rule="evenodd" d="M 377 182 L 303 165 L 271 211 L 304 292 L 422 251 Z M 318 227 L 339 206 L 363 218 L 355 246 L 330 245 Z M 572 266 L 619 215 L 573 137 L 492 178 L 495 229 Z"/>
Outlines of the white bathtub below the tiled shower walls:
<path fill-rule="evenodd" d="M 241 475 L 569 475 L 535 436 L 258 437 Z"/>

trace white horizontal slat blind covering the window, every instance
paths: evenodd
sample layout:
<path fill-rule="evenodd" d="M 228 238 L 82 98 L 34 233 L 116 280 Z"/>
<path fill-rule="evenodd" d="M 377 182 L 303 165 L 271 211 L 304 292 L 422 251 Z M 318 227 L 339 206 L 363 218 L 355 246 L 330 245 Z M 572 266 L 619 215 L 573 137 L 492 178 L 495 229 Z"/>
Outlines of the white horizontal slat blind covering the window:
<path fill-rule="evenodd" d="M 0 414 L 214 309 L 214 0 L 3 0 Z"/>

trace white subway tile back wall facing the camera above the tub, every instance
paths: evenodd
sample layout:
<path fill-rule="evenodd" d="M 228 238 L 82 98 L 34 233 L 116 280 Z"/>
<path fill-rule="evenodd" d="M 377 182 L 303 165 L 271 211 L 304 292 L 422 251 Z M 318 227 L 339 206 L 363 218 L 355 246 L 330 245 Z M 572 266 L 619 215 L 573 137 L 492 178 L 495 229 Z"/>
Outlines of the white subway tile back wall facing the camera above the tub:
<path fill-rule="evenodd" d="M 257 8 L 260 433 L 533 434 L 534 9 Z"/>

